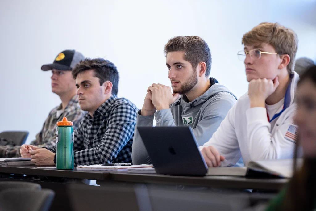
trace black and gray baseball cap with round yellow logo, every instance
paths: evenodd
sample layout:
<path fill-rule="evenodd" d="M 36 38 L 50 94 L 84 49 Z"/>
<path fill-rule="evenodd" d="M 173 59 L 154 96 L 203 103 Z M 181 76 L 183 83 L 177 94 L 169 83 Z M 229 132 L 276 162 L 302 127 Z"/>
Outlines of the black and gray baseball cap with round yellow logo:
<path fill-rule="evenodd" d="M 85 57 L 82 53 L 75 50 L 64 50 L 59 53 L 52 64 L 46 64 L 42 66 L 42 71 L 52 70 L 53 68 L 57 70 L 72 70 L 76 64 Z"/>

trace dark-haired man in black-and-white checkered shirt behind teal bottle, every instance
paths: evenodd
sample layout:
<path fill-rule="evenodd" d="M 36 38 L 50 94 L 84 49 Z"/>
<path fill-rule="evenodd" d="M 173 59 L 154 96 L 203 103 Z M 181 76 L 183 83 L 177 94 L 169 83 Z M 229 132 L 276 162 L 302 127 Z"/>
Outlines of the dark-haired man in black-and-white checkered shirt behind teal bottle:
<path fill-rule="evenodd" d="M 118 98 L 119 72 L 105 59 L 85 59 L 72 71 L 79 105 L 88 111 L 74 131 L 75 165 L 131 163 L 137 107 Z M 33 151 L 28 152 L 28 148 Z M 54 165 L 56 146 L 21 148 L 36 165 Z M 55 159 L 56 160 L 56 159 Z"/>

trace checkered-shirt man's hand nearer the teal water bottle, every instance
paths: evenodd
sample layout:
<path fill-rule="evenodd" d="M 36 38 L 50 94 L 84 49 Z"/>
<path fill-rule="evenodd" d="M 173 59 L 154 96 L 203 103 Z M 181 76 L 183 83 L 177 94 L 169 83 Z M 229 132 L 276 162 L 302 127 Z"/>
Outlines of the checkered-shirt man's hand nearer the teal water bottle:
<path fill-rule="evenodd" d="M 55 165 L 55 153 L 46 148 L 37 148 L 30 152 L 32 162 L 35 165 Z"/>

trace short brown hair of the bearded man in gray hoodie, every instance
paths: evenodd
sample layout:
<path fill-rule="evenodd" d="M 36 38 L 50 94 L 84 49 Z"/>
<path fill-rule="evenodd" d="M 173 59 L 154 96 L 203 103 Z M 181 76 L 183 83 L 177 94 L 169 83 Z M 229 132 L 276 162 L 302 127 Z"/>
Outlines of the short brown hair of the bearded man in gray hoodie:
<path fill-rule="evenodd" d="M 198 36 L 177 36 L 171 38 L 163 52 L 167 56 L 168 52 L 184 51 L 184 59 L 191 63 L 195 69 L 200 62 L 206 63 L 205 76 L 210 75 L 212 57 L 210 48 L 207 43 Z"/>

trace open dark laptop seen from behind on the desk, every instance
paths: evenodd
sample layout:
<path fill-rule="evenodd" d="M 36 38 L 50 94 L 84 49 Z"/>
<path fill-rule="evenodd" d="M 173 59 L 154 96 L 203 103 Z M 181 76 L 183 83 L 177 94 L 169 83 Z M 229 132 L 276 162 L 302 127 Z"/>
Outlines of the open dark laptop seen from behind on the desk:
<path fill-rule="evenodd" d="M 191 127 L 137 127 L 158 174 L 201 175 L 207 165 Z"/>

